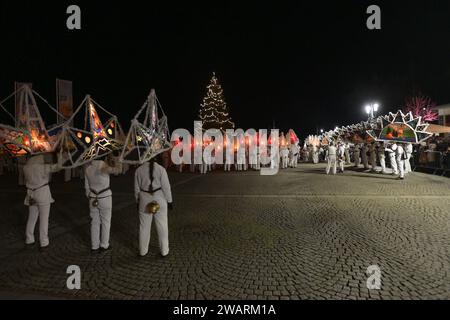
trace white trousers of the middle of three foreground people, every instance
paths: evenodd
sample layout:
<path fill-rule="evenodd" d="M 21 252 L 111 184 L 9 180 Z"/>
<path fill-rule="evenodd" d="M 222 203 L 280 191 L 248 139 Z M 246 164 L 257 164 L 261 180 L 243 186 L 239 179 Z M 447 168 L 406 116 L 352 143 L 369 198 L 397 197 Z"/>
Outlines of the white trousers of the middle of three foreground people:
<path fill-rule="evenodd" d="M 89 199 L 91 212 L 91 244 L 92 249 L 109 248 L 109 235 L 111 230 L 112 197 L 98 199 L 98 206 L 93 207 Z"/>

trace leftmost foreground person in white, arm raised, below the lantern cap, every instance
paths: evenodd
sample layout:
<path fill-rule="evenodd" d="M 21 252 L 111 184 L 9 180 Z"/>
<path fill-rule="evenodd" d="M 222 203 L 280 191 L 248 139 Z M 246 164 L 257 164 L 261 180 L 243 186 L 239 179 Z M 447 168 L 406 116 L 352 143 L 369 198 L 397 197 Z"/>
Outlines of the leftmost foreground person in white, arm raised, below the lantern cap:
<path fill-rule="evenodd" d="M 31 157 L 23 167 L 27 196 L 25 205 L 28 206 L 28 222 L 25 232 L 25 243 L 35 243 L 34 229 L 39 218 L 39 242 L 42 249 L 49 245 L 48 219 L 50 206 L 55 202 L 50 193 L 49 181 L 51 174 L 60 170 L 58 164 L 45 164 L 43 155 Z"/>

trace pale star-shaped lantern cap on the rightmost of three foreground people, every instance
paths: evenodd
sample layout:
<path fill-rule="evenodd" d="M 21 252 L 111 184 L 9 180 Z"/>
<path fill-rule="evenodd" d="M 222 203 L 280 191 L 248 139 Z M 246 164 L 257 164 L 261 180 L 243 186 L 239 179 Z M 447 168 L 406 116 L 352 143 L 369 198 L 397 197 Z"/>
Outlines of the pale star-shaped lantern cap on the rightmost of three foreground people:
<path fill-rule="evenodd" d="M 171 148 L 169 139 L 167 117 L 152 90 L 131 121 L 120 161 L 128 164 L 147 162 Z"/>

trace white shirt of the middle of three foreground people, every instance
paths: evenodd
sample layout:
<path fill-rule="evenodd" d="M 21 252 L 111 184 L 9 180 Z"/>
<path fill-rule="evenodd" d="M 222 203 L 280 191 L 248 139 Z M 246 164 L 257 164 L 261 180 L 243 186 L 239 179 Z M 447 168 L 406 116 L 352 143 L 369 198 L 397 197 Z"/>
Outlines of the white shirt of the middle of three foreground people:
<path fill-rule="evenodd" d="M 103 160 L 94 160 L 90 164 L 88 164 L 85 168 L 84 175 L 84 187 L 86 189 L 86 196 L 87 197 L 110 197 L 112 196 L 112 192 L 109 189 L 110 186 L 110 174 L 119 174 L 122 171 L 122 168 L 117 167 L 113 168 L 110 167 L 105 161 Z M 107 191 L 104 191 L 108 189 Z M 95 192 L 92 192 L 92 191 Z M 95 194 L 99 193 L 101 191 L 101 194 Z"/>

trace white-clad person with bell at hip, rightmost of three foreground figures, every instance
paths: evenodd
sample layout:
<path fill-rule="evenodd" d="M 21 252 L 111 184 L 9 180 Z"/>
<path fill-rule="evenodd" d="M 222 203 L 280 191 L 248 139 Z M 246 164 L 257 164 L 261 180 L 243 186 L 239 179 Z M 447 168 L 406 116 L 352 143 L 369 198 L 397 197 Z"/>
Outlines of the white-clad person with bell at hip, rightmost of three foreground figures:
<path fill-rule="evenodd" d="M 169 254 L 169 228 L 167 210 L 172 209 L 172 192 L 167 171 L 150 160 L 140 166 L 135 173 L 134 194 L 139 206 L 139 255 L 148 253 L 152 221 L 155 220 L 159 247 L 163 257 Z M 156 201 L 159 210 L 149 212 L 149 204 Z"/>

